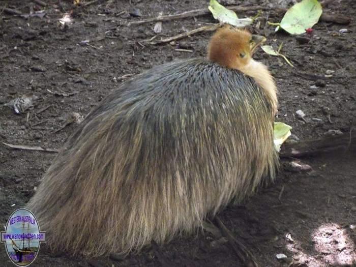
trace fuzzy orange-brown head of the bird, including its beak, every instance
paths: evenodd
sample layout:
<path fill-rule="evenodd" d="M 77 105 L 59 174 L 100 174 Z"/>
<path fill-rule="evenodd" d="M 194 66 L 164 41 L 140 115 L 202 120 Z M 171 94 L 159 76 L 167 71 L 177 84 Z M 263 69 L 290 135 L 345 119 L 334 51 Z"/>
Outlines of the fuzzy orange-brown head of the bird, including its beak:
<path fill-rule="evenodd" d="M 263 36 L 251 35 L 244 29 L 225 25 L 210 40 L 207 57 L 221 66 L 242 70 L 265 40 Z"/>

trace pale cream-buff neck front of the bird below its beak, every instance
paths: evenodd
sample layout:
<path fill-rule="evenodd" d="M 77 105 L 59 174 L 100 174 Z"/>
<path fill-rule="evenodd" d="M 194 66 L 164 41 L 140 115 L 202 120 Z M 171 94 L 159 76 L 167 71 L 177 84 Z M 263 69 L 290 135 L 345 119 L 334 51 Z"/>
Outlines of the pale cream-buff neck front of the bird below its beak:
<path fill-rule="evenodd" d="M 259 86 L 262 87 L 266 96 L 272 103 L 275 115 L 277 113 L 278 107 L 277 87 L 267 67 L 262 63 L 251 59 L 251 61 L 243 68 L 241 68 L 240 71 L 253 78 L 259 84 Z"/>

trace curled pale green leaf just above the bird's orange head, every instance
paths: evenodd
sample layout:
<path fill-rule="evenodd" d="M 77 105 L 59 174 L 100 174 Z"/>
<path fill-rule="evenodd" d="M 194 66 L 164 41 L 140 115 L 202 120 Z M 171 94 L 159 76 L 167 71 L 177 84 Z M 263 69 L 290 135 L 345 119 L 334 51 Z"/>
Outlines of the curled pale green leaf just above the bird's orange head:
<path fill-rule="evenodd" d="M 210 0 L 210 6 L 208 7 L 212 12 L 213 17 L 219 20 L 221 23 L 228 23 L 236 27 L 245 27 L 252 23 L 250 18 L 239 19 L 235 12 L 220 5 L 216 0 Z"/>

